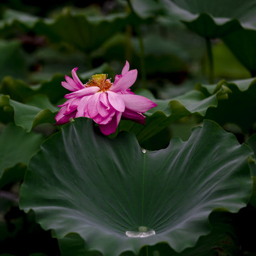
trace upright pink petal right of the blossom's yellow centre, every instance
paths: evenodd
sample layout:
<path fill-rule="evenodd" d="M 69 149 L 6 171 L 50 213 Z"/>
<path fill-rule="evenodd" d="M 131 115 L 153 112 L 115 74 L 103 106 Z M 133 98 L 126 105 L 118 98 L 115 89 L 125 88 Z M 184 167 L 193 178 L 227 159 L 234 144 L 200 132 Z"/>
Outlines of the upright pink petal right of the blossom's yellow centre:
<path fill-rule="evenodd" d="M 114 84 L 112 85 L 112 87 L 110 87 L 110 90 L 112 90 L 112 92 L 127 90 L 136 81 L 137 73 L 137 70 L 130 70 L 129 72 L 125 73 L 122 78 L 119 78 L 119 80 L 114 80 Z"/>

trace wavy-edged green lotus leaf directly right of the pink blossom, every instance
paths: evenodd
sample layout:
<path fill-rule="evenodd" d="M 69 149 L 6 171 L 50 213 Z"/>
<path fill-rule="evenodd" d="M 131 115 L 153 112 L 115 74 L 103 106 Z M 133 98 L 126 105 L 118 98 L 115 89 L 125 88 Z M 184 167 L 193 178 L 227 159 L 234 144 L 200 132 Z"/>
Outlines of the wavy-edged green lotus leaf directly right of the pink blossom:
<path fill-rule="evenodd" d="M 169 100 L 156 100 L 148 91 L 138 92 L 156 102 L 158 106 L 146 112 L 145 126 L 124 120 L 120 122 L 119 131 L 133 132 L 139 142 L 145 142 L 178 119 L 191 114 L 203 117 L 208 108 L 217 107 L 218 100 L 228 97 L 229 93 L 230 90 L 221 84 L 218 84 L 215 93 L 212 94 L 206 90 L 191 90 Z"/>

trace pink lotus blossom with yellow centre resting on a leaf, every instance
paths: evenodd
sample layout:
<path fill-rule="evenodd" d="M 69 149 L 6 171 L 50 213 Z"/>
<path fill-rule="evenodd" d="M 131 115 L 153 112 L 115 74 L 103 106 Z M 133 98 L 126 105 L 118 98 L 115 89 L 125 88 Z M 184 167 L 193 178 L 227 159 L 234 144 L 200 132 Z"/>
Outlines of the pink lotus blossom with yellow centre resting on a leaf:
<path fill-rule="evenodd" d="M 131 119 L 139 124 L 145 124 L 142 113 L 156 107 L 156 103 L 146 97 L 134 95 L 131 87 L 137 79 L 137 70 L 129 70 L 128 61 L 122 69 L 122 75 L 116 75 L 114 82 L 107 75 L 92 75 L 92 80 L 82 84 L 76 71 L 72 70 L 73 79 L 65 76 L 66 82 L 61 85 L 70 90 L 65 95 L 68 99 L 56 115 L 56 124 L 65 124 L 70 118 L 89 117 L 99 124 L 103 134 L 115 132 L 121 117 Z"/>

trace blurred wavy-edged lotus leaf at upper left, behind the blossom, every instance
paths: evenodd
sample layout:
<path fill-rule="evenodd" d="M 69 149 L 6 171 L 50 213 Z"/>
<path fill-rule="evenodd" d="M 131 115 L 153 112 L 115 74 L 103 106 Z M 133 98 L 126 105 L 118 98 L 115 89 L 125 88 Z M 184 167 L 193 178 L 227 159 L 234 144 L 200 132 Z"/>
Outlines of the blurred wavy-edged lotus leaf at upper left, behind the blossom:
<path fill-rule="evenodd" d="M 66 42 L 90 53 L 104 41 L 127 25 L 127 14 L 111 16 L 86 16 L 66 9 L 53 19 L 30 16 L 14 10 L 7 10 L 0 28 L 7 29 L 19 26 L 28 31 L 47 36 L 53 43 Z"/>

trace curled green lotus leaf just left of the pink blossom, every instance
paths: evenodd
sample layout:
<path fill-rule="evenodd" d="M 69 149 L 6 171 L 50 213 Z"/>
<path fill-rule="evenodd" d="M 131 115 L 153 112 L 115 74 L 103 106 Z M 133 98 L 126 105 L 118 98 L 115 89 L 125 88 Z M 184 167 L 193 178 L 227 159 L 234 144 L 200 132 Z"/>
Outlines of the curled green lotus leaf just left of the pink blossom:
<path fill-rule="evenodd" d="M 30 132 L 38 124 L 54 124 L 59 110 L 49 102 L 46 95 L 35 95 L 27 104 L 11 100 L 8 95 L 0 95 L 0 106 L 4 106 L 7 111 L 13 109 L 15 124 L 26 132 Z"/>

